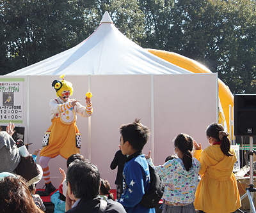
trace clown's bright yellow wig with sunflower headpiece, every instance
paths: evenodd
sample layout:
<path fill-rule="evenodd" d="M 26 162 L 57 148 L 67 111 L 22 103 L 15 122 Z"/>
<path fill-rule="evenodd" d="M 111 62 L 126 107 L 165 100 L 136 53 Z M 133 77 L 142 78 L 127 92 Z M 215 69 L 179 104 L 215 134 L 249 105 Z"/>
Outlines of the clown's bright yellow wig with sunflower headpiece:
<path fill-rule="evenodd" d="M 59 80 L 54 80 L 54 81 L 52 82 L 52 87 L 54 87 L 54 89 L 55 89 L 55 91 L 56 91 L 56 95 L 57 95 L 58 97 L 63 97 L 63 96 L 65 96 L 65 95 L 66 95 L 66 92 L 68 92 L 68 91 L 69 91 L 69 92 L 68 92 L 68 97 L 69 97 L 69 96 L 72 96 L 73 91 L 74 91 L 71 82 L 68 82 L 67 80 L 64 80 L 64 76 L 65 76 L 65 75 L 61 75 L 61 76 L 60 76 L 60 78 L 62 78 L 61 81 L 59 81 Z M 65 94 L 64 94 L 63 92 L 64 92 Z M 67 97 L 67 98 L 68 98 L 68 97 Z"/>

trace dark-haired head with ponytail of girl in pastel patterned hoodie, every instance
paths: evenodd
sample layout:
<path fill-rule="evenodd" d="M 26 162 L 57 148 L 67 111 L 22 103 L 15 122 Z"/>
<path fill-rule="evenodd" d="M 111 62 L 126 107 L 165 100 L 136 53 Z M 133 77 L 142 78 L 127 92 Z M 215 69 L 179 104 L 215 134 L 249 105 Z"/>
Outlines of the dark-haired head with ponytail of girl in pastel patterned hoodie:
<path fill-rule="evenodd" d="M 193 138 L 186 134 L 179 134 L 174 139 L 175 149 L 182 152 L 182 161 L 187 171 L 192 167 L 192 151 L 193 151 Z"/>

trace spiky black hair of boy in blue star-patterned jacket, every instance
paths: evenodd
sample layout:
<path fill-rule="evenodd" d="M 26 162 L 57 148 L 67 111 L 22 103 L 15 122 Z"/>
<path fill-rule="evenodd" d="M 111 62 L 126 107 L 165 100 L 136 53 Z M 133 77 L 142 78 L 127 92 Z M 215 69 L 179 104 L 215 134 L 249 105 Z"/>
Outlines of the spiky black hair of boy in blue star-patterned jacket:
<path fill-rule="evenodd" d="M 129 142 L 134 151 L 142 151 L 150 136 L 150 130 L 147 126 L 141 124 L 140 120 L 137 119 L 131 124 L 122 125 L 120 133 L 124 143 Z"/>

